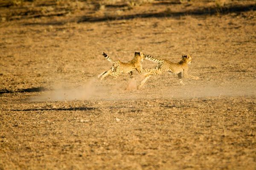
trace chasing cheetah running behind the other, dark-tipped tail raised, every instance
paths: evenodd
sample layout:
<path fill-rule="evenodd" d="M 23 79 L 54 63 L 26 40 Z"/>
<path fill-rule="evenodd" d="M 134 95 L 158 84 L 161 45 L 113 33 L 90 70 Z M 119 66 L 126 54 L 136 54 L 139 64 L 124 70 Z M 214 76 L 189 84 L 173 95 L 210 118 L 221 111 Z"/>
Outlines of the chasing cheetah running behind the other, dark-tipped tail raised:
<path fill-rule="evenodd" d="M 106 76 L 110 75 L 113 78 L 118 77 L 122 73 L 128 73 L 130 78 L 133 79 L 133 73 L 132 71 L 135 69 L 140 74 L 147 73 L 150 71 L 153 71 L 154 69 L 143 69 L 141 62 L 144 60 L 144 54 L 142 52 L 135 52 L 134 53 L 134 59 L 132 59 L 129 62 L 121 62 L 120 60 L 113 60 L 111 59 L 107 54 L 104 52 L 102 55 L 107 59 L 109 62 L 113 62 L 113 65 L 111 69 L 108 71 L 104 71 L 102 74 L 99 74 L 98 79 L 102 80 Z"/>

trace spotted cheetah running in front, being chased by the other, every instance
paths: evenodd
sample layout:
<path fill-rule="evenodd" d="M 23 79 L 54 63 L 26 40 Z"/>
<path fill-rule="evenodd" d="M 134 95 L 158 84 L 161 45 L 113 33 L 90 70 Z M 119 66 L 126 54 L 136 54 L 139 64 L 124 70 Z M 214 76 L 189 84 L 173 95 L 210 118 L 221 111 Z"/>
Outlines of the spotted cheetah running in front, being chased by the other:
<path fill-rule="evenodd" d="M 151 71 L 144 74 L 145 79 L 143 79 L 140 82 L 138 89 L 143 87 L 143 85 L 149 79 L 149 77 L 151 77 L 151 75 L 162 74 L 163 72 L 166 72 L 166 71 L 168 71 L 170 74 L 177 74 L 181 85 L 184 85 L 182 81 L 182 74 L 185 78 L 196 79 L 196 80 L 199 79 L 199 77 L 195 77 L 188 74 L 188 69 L 189 69 L 188 65 L 190 65 L 192 62 L 192 57 L 189 54 L 182 55 L 182 59 L 180 60 L 180 62 L 177 62 L 177 63 L 170 62 L 167 59 L 158 59 L 156 57 L 153 57 L 147 54 L 144 54 L 144 58 L 153 62 L 157 62 L 157 66 L 155 70 L 151 69 Z"/>

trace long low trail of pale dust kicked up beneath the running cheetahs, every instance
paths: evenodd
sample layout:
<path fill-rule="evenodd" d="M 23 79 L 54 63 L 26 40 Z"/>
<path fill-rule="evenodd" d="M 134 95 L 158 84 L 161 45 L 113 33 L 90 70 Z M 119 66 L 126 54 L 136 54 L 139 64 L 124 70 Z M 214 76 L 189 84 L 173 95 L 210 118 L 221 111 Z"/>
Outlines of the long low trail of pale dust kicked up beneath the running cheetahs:
<path fill-rule="evenodd" d="M 151 87 L 148 83 L 142 90 L 137 90 L 138 82 L 130 79 L 128 82 L 116 82 L 116 85 L 105 85 L 90 79 L 79 88 L 62 88 L 56 85 L 52 91 L 42 92 L 39 96 L 30 99 L 40 101 L 71 101 L 71 100 L 131 100 L 131 99 L 174 99 L 174 98 L 202 98 L 216 96 L 256 96 L 255 81 L 251 82 L 218 82 L 192 83 L 186 85 L 161 83 Z M 115 83 L 113 83 L 115 84 Z M 72 87 L 72 86 L 71 86 Z M 154 89 L 154 90 L 153 90 Z"/>

